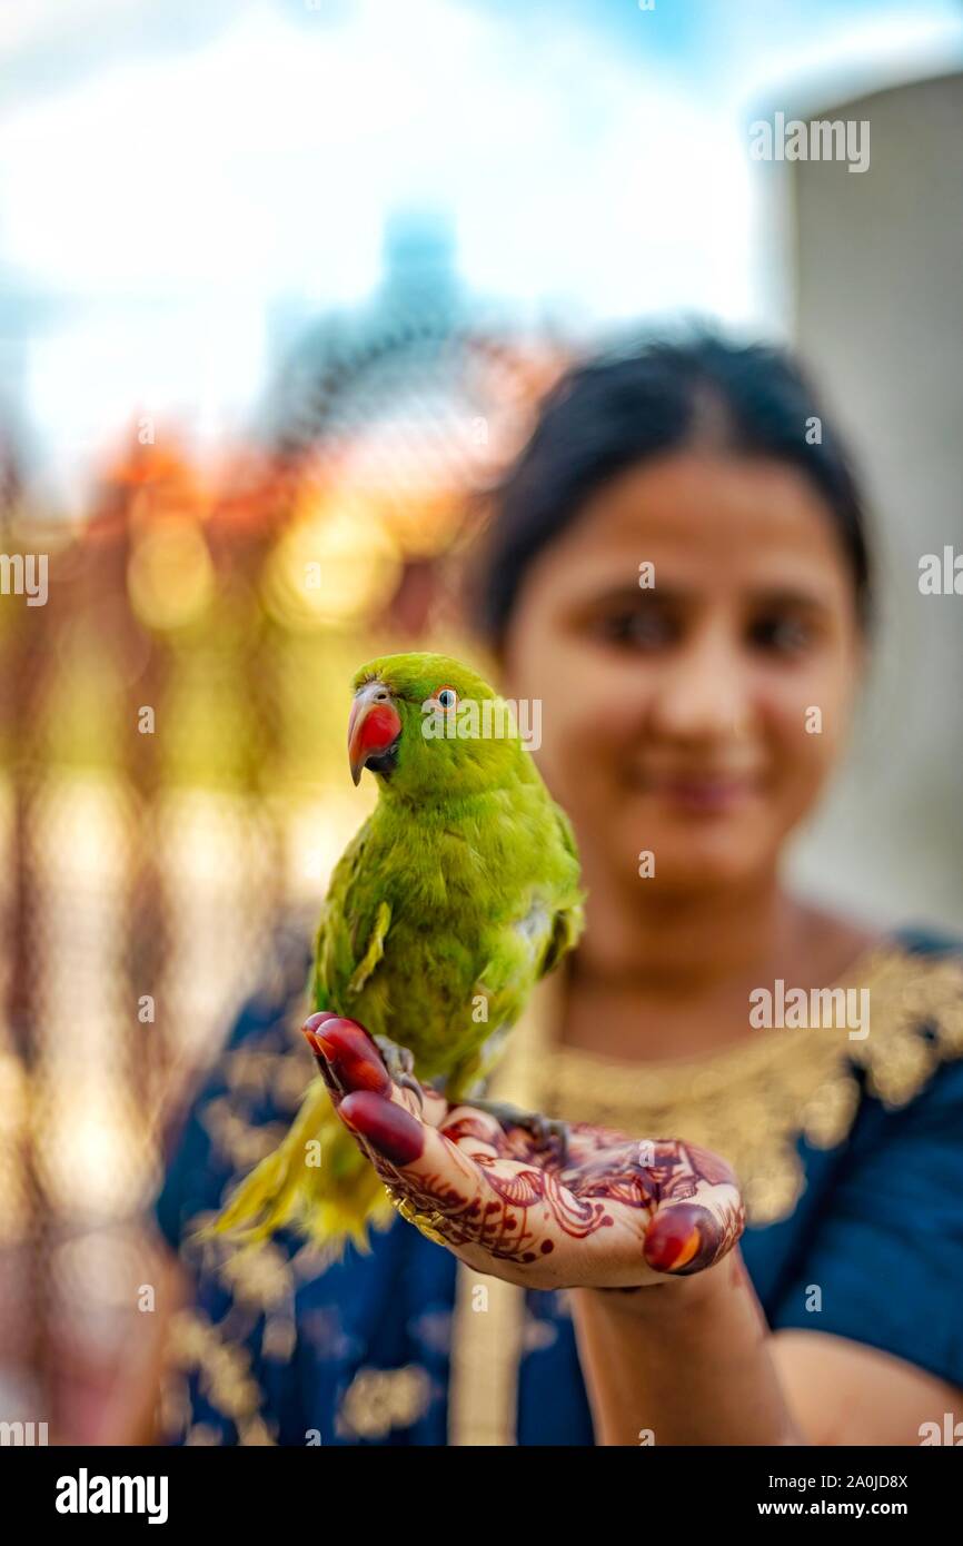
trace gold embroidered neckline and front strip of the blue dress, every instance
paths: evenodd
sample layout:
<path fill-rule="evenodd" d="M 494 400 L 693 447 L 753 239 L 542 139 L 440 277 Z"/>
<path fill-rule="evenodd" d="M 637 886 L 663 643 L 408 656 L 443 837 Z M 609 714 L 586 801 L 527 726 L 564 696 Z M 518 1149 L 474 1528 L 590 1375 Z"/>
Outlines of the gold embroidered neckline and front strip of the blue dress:
<path fill-rule="evenodd" d="M 796 1153 L 833 1149 L 859 1105 L 855 1068 L 884 1105 L 906 1105 L 940 1061 L 963 1056 L 963 963 L 920 955 L 898 942 L 870 948 L 839 982 L 869 989 L 870 1030 L 761 1030 L 697 1059 L 624 1062 L 553 1042 L 563 974 L 539 983 L 509 1037 L 493 1081 L 499 1099 L 637 1138 L 679 1138 L 713 1149 L 739 1175 L 751 1224 L 788 1218 L 804 1190 Z M 929 1034 L 923 1034 L 923 1033 Z M 852 1067 L 855 1065 L 855 1068 Z M 459 1262 L 453 1325 L 448 1442 L 513 1444 L 524 1291 L 471 1311 L 479 1274 Z M 504 1291 L 504 1292 L 502 1292 Z"/>

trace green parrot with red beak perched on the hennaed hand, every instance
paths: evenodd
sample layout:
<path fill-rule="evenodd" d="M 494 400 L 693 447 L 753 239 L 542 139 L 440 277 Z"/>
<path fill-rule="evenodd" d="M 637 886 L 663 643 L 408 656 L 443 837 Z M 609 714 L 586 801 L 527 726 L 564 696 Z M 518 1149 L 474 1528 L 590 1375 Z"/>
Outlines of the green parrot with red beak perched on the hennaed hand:
<path fill-rule="evenodd" d="M 481 1096 L 535 983 L 583 929 L 575 838 L 504 699 L 448 656 L 383 656 L 354 677 L 348 754 L 379 802 L 331 877 L 312 1000 L 363 1025 L 388 1071 L 526 1121 Z M 530 1119 L 533 1124 L 538 1118 Z M 206 1234 L 291 1226 L 339 1254 L 394 1209 L 331 1104 L 308 1087 L 280 1147 Z"/>

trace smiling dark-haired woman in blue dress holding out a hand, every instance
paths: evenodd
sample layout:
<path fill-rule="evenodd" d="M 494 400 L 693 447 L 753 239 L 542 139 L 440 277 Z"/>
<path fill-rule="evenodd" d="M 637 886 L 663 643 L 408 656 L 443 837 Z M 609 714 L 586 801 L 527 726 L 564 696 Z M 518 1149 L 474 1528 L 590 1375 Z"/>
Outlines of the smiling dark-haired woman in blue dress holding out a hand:
<path fill-rule="evenodd" d="M 963 971 L 781 878 L 870 621 L 825 414 L 784 354 L 711 337 L 583 365 L 473 578 L 505 696 L 541 708 L 589 894 L 496 1093 L 589 1127 L 560 1190 L 558 1150 L 487 1116 L 352 1101 L 379 1054 L 320 1027 L 335 1104 L 416 1228 L 331 1265 L 288 1240 L 202 1269 L 187 1251 L 181 1433 L 920 1442 L 963 1410 Z M 305 965 L 295 949 L 288 996 L 249 1006 L 192 1112 L 158 1203 L 173 1249 L 303 1088 Z M 553 1198 L 524 1262 L 447 1206 L 484 1217 L 499 1178 Z"/>

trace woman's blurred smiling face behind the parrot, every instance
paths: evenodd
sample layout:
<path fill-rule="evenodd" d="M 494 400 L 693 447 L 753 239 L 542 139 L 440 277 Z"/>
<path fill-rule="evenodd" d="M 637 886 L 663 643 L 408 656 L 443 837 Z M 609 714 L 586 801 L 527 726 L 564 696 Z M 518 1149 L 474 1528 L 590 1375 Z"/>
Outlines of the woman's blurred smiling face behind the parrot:
<path fill-rule="evenodd" d="M 776 461 L 629 468 L 532 564 L 504 665 L 507 696 L 541 699 L 539 767 L 595 884 L 640 884 L 643 852 L 663 895 L 771 872 L 859 676 L 832 518 Z"/>

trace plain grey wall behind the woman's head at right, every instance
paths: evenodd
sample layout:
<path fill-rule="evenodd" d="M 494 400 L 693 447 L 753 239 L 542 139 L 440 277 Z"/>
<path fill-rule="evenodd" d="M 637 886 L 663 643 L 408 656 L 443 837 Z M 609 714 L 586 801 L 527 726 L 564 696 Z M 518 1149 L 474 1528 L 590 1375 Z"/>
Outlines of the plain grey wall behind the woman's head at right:
<path fill-rule="evenodd" d="M 796 339 L 855 447 L 881 557 L 864 724 L 801 872 L 884 921 L 958 931 L 963 595 L 918 580 L 923 555 L 963 555 L 963 76 L 793 116 L 870 124 L 867 172 L 785 176 Z"/>

